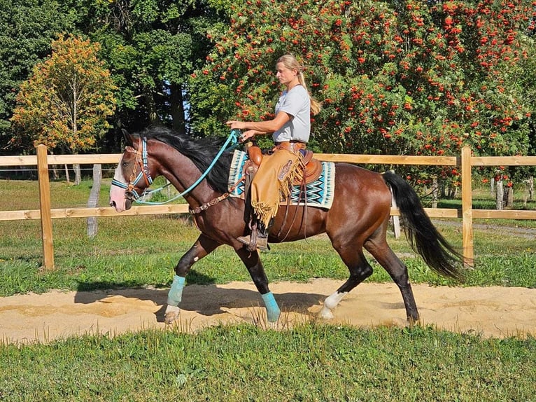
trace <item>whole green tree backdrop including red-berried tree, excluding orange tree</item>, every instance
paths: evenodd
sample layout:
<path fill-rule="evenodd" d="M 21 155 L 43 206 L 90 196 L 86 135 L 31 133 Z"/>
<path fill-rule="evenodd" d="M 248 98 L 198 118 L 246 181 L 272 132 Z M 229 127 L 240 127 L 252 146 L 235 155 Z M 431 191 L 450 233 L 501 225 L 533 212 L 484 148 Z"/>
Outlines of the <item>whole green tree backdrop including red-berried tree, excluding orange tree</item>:
<path fill-rule="evenodd" d="M 291 52 L 324 104 L 313 124 L 318 151 L 458 155 L 468 144 L 481 155 L 534 153 L 526 1 L 0 2 L 3 146 L 20 83 L 52 39 L 82 31 L 101 43 L 118 87 L 115 127 L 223 134 L 230 118 L 270 118 L 274 62 Z"/>

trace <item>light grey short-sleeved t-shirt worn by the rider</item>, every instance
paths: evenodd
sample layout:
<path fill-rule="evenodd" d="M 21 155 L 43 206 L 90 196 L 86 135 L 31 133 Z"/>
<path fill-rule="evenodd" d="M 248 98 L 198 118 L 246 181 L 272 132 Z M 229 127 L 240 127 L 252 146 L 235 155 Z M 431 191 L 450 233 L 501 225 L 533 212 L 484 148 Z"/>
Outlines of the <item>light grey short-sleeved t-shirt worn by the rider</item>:
<path fill-rule="evenodd" d="M 301 141 L 308 142 L 311 134 L 311 99 L 302 85 L 296 85 L 290 91 L 283 91 L 276 104 L 276 114 L 280 111 L 293 116 L 281 130 L 274 132 L 275 142 Z"/>

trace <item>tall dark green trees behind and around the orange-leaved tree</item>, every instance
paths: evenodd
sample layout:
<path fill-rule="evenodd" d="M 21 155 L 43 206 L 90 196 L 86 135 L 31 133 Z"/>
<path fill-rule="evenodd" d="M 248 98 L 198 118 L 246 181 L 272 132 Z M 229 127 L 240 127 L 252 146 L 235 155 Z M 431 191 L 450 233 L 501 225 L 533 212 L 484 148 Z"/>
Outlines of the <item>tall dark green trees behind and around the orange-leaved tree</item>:
<path fill-rule="evenodd" d="M 83 32 L 101 43 L 99 58 L 118 88 L 114 128 L 165 123 L 188 131 L 185 83 L 211 48 L 207 30 L 221 30 L 228 10 L 227 1 L 209 0 L 3 0 L 0 5 L 0 153 L 8 145 L 12 154 L 31 146 L 30 139 L 10 142 L 19 85 L 63 33 Z M 108 151 L 118 149 L 115 134 L 107 129 L 101 141 Z"/>

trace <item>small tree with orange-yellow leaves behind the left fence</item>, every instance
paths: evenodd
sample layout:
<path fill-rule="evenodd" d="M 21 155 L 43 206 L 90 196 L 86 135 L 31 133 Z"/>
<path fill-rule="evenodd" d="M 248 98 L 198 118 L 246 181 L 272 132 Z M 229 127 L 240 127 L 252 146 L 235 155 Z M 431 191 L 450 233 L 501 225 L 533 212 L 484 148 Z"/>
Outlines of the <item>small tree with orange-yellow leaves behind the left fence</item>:
<path fill-rule="evenodd" d="M 98 43 L 75 36 L 52 43 L 52 55 L 20 86 L 11 118 L 13 141 L 29 138 L 34 146 L 71 153 L 96 144 L 115 107 L 115 86 L 98 50 Z"/>

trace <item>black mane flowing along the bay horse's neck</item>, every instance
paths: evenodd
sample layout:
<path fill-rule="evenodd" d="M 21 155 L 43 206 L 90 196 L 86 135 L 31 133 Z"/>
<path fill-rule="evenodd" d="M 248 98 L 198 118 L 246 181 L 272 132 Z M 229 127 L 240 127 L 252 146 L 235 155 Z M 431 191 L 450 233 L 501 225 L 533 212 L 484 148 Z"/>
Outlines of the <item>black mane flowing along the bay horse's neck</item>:
<path fill-rule="evenodd" d="M 194 139 L 188 135 L 180 134 L 167 127 L 149 127 L 143 132 L 135 134 L 137 137 L 146 137 L 146 139 L 156 139 L 164 144 L 172 146 L 178 152 L 185 155 L 194 162 L 197 169 L 202 173 L 209 168 L 214 158 L 225 143 L 222 137 L 205 137 Z M 212 167 L 209 174 L 206 175 L 206 181 L 209 186 L 220 193 L 227 192 L 229 186 L 229 168 L 232 160 L 232 151 L 224 152 L 216 165 Z"/>

